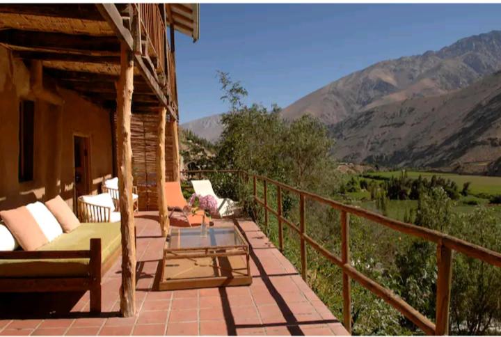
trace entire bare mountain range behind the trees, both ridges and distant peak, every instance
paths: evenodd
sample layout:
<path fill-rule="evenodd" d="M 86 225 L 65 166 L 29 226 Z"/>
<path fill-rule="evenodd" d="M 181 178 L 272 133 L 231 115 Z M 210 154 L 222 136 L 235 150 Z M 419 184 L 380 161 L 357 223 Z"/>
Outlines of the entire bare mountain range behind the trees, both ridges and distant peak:
<path fill-rule="evenodd" d="M 500 69 L 501 31 L 491 31 L 353 72 L 292 103 L 282 116 L 319 118 L 337 139 L 334 153 L 342 160 L 470 167 L 501 155 L 493 150 L 501 135 L 495 127 L 501 76 L 493 75 Z M 487 115 L 492 127 L 477 121 Z M 221 132 L 219 119 L 209 116 L 182 127 L 213 141 Z M 492 148 L 479 145 L 487 139 Z"/>

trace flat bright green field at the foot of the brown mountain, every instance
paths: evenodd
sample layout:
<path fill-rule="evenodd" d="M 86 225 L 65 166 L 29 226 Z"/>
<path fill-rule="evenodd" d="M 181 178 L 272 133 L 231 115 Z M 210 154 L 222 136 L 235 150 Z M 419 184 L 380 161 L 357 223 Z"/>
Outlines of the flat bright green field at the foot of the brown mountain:
<path fill-rule="evenodd" d="M 388 171 L 388 172 L 374 172 L 367 173 L 367 175 L 372 175 L 374 178 L 377 176 L 390 178 L 392 176 L 398 177 L 401 175 L 401 171 Z M 460 175 L 456 173 L 434 173 L 434 172 L 420 172 L 420 171 L 407 171 L 408 178 L 417 179 L 420 175 L 422 178 L 431 179 L 433 175 L 440 176 L 446 179 L 450 179 L 458 185 L 459 189 L 463 187 L 465 182 L 471 182 L 470 190 L 471 194 L 488 194 L 488 195 L 498 195 L 501 194 L 501 177 L 488 177 L 485 175 Z"/>

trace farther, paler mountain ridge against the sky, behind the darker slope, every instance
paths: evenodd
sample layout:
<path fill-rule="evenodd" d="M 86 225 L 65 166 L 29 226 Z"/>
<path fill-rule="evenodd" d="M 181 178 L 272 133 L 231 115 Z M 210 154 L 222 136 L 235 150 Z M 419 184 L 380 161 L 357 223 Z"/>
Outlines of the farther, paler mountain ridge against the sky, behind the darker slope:
<path fill-rule="evenodd" d="M 438 52 L 383 61 L 302 97 L 282 111 L 331 125 L 358 111 L 466 88 L 501 69 L 501 31 L 463 38 Z"/>

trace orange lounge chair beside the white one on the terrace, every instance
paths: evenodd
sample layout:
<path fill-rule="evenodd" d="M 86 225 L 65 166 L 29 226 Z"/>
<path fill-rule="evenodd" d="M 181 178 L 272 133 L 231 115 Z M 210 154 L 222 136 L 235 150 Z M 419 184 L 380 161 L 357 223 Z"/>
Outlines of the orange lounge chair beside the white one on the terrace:
<path fill-rule="evenodd" d="M 188 207 L 188 203 L 184 199 L 181 191 L 181 184 L 178 181 L 168 181 L 164 184 L 164 189 L 166 192 L 167 209 L 169 213 L 169 221 L 171 226 L 177 227 L 193 227 L 200 226 L 203 219 L 203 210 L 196 210 L 195 214 L 189 212 L 184 214 L 184 207 Z M 210 221 L 209 217 L 205 217 L 205 221 L 208 224 Z"/>

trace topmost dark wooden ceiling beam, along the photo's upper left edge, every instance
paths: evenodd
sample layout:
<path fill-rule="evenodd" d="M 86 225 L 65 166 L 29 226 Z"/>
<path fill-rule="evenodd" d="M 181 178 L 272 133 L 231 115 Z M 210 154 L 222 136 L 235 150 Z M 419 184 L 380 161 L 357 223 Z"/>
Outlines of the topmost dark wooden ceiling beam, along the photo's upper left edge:
<path fill-rule="evenodd" d="M 104 21 L 92 3 L 2 3 L 0 13 Z"/>

